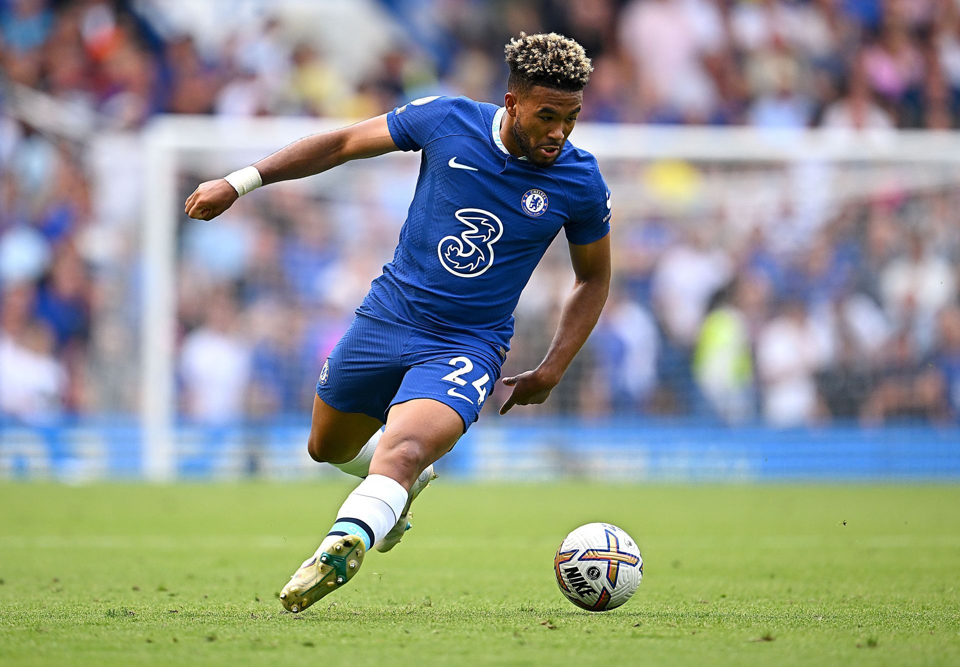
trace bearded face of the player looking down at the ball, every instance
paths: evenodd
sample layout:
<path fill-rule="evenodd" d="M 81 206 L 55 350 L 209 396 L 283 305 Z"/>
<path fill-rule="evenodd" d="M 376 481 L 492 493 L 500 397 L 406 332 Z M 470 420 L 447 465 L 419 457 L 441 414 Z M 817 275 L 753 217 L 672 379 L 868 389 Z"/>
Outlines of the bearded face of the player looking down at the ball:
<path fill-rule="evenodd" d="M 538 166 L 550 166 L 557 161 L 566 137 L 573 132 L 583 101 L 583 92 L 543 86 L 534 86 L 520 96 L 507 93 L 507 111 L 514 116 L 514 139 L 527 160 Z"/>

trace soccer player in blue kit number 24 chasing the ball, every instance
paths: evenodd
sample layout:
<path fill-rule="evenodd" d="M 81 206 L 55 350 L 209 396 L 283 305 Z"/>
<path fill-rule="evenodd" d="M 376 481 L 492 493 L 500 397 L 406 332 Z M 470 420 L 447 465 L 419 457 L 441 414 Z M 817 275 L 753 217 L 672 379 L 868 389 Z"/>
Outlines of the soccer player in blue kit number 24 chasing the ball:
<path fill-rule="evenodd" d="M 409 528 L 433 463 L 476 421 L 500 377 L 520 291 L 561 229 L 576 280 L 540 365 L 503 379 L 513 391 L 500 414 L 547 399 L 607 299 L 610 190 L 593 156 L 567 141 L 593 68 L 580 44 L 553 33 L 521 33 L 505 51 L 503 107 L 424 97 L 302 138 L 186 200 L 190 217 L 209 220 L 260 185 L 422 152 L 394 259 L 320 372 L 310 456 L 363 482 L 283 588 L 290 611 L 347 583 L 371 547 L 389 551 Z"/>

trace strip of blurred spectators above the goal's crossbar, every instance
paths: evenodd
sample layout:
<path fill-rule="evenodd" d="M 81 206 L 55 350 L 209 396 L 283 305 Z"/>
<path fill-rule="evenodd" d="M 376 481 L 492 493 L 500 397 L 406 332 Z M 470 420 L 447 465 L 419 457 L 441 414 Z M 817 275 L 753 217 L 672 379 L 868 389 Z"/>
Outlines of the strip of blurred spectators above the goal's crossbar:
<path fill-rule="evenodd" d="M 424 92 L 501 100 L 504 42 L 553 30 L 594 60 L 585 120 L 950 128 L 960 111 L 955 0 L 367 0 L 399 34 L 346 48 L 335 25 L 301 37 L 283 5 L 243 25 L 224 15 L 210 37 L 215 0 L 192 14 L 179 0 L 2 0 L 3 68 L 111 126 L 157 111 L 363 117 Z M 376 58 L 358 70 L 339 51 Z"/>

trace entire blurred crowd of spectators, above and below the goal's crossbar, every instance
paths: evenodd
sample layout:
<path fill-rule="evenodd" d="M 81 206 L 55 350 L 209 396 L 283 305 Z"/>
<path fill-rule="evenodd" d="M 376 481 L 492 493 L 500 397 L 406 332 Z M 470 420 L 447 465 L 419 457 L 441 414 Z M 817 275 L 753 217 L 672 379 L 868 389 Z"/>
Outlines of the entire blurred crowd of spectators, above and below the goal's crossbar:
<path fill-rule="evenodd" d="M 954 0 L 370 0 L 357 6 L 382 18 L 382 38 L 347 54 L 364 67 L 342 66 L 341 47 L 330 47 L 343 43 L 333 38 L 342 26 L 303 37 L 282 2 L 253 3 L 262 11 L 243 25 L 225 18 L 216 39 L 182 18 L 216 3 L 167 4 L 179 24 L 161 0 L 0 0 L 0 101 L 6 108 L 12 86 L 27 86 L 91 130 L 133 132 L 159 112 L 359 118 L 423 94 L 498 102 L 504 42 L 554 30 L 594 59 L 584 120 L 855 129 L 960 120 Z M 22 114 L 0 115 L 0 164 L 0 415 L 134 411 L 138 219 L 103 219 L 84 141 Z M 183 175 L 184 197 L 200 179 Z M 373 203 L 268 188 L 213 223 L 180 221 L 185 415 L 227 422 L 309 409 L 324 357 L 390 258 L 412 196 L 406 181 L 377 187 L 390 191 Z M 136 211 L 135 189 L 119 196 L 131 201 L 111 206 Z M 887 187 L 794 236 L 783 233 L 799 215 L 791 210 L 737 234 L 722 216 L 618 211 L 608 308 L 537 411 L 778 426 L 955 419 L 958 197 Z M 562 253 L 544 260 L 517 310 L 505 372 L 536 365 L 568 272 Z"/>

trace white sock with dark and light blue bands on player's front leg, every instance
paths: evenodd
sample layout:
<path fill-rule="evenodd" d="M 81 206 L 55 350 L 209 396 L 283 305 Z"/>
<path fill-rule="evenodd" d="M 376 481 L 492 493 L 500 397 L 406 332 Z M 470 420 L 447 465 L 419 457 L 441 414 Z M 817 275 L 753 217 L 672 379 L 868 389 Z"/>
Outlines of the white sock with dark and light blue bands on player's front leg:
<path fill-rule="evenodd" d="M 369 550 L 396 525 L 407 496 L 400 482 L 385 475 L 370 475 L 347 496 L 328 536 L 359 535 Z"/>

